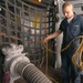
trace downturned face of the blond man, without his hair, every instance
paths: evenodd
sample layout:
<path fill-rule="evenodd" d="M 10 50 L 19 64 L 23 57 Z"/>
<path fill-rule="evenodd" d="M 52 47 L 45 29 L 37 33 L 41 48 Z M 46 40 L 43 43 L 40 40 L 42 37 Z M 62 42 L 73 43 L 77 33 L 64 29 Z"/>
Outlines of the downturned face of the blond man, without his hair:
<path fill-rule="evenodd" d="M 63 14 L 65 18 L 70 19 L 73 17 L 73 8 L 72 7 L 69 6 L 69 7 L 64 8 L 62 11 L 63 11 Z"/>

